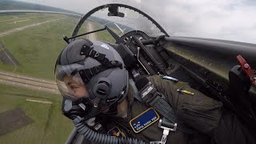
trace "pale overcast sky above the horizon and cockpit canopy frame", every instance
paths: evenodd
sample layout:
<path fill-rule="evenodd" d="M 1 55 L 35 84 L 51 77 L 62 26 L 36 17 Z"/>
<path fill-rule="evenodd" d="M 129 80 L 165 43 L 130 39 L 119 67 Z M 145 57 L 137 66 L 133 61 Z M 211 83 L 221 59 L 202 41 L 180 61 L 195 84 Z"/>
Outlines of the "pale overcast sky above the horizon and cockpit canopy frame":
<path fill-rule="evenodd" d="M 255 0 L 21 0 L 85 14 L 110 2 L 135 6 L 169 34 L 256 43 Z"/>

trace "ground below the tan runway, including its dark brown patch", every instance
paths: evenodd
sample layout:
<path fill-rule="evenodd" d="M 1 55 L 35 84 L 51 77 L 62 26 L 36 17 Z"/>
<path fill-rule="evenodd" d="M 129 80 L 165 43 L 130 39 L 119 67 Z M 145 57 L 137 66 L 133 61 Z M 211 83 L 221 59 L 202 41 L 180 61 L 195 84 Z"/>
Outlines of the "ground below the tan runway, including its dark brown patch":
<path fill-rule="evenodd" d="M 61 114 L 61 97 L 58 94 L 6 85 L 0 85 L 0 90 L 0 143 L 66 141 L 73 126 Z"/>

